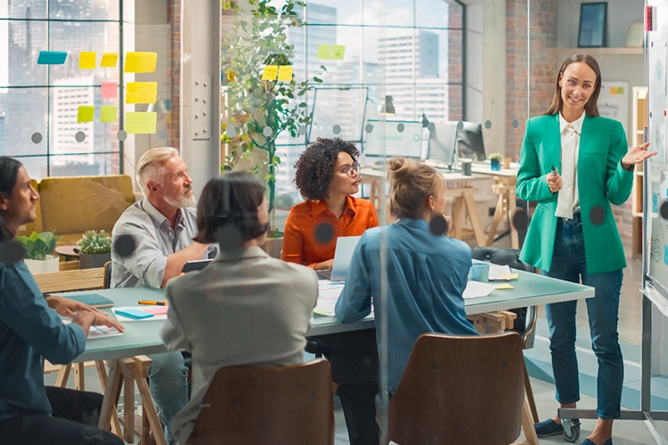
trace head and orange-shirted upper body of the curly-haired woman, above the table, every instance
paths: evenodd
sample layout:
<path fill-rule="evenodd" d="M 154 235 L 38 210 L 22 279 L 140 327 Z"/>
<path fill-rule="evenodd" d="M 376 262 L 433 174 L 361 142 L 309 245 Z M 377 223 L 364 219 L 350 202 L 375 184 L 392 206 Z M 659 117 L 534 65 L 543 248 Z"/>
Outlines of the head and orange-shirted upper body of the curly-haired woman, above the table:
<path fill-rule="evenodd" d="M 362 182 L 358 156 L 353 143 L 338 138 L 318 138 L 301 154 L 295 164 L 295 184 L 305 201 L 290 210 L 281 259 L 316 271 L 331 269 L 338 237 L 362 235 L 378 225 L 371 203 L 351 196 Z M 316 229 L 326 227 L 323 224 L 333 230 L 331 239 L 316 237 Z"/>

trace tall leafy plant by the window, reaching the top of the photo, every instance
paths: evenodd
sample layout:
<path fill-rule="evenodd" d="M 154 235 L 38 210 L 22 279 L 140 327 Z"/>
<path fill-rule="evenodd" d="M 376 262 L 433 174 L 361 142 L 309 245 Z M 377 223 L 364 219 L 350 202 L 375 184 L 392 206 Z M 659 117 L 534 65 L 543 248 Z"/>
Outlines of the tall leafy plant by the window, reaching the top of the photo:
<path fill-rule="evenodd" d="M 221 170 L 233 171 L 241 160 L 251 160 L 251 173 L 267 184 L 272 211 L 281 164 L 276 156 L 276 139 L 283 132 L 297 137 L 299 127 L 311 123 L 313 113 L 307 110 L 305 93 L 322 79 L 311 77 L 297 82 L 293 76 L 285 82 L 262 80 L 267 65 L 292 65 L 295 47 L 288 43 L 288 28 L 304 24 L 295 11 L 297 6 L 305 6 L 304 2 L 287 0 L 280 8 L 270 3 L 248 0 L 250 11 L 242 12 L 235 2 L 223 1 L 224 14 L 232 15 L 232 30 L 224 36 L 221 57 L 228 116 L 221 143 L 229 144 Z M 324 66 L 321 69 L 326 70 Z M 258 150 L 262 158 L 259 162 Z"/>

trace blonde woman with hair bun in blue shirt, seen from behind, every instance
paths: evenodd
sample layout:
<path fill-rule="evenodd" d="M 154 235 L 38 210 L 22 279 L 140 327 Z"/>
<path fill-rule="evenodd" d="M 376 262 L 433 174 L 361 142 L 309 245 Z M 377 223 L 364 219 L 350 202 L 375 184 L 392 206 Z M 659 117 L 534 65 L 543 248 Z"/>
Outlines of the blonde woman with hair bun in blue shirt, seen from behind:
<path fill-rule="evenodd" d="M 462 293 L 471 268 L 468 245 L 431 227 L 443 222 L 445 182 L 430 166 L 389 161 L 390 211 L 398 221 L 365 231 L 336 305 L 344 323 L 380 312 L 387 301 L 388 386 L 396 392 L 413 344 L 426 333 L 477 336 Z M 387 300 L 380 298 L 381 255 L 387 254 Z M 385 320 L 376 318 L 376 332 Z M 378 338 L 378 344 L 386 339 Z"/>

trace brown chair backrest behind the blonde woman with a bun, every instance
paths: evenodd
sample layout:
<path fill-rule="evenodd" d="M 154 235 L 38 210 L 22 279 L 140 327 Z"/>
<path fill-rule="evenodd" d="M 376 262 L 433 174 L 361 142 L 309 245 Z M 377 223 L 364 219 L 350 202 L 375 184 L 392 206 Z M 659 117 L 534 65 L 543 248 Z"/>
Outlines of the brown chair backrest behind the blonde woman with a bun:
<path fill-rule="evenodd" d="M 402 445 L 508 445 L 519 436 L 524 359 L 515 332 L 424 334 L 388 406 L 388 438 Z"/>

